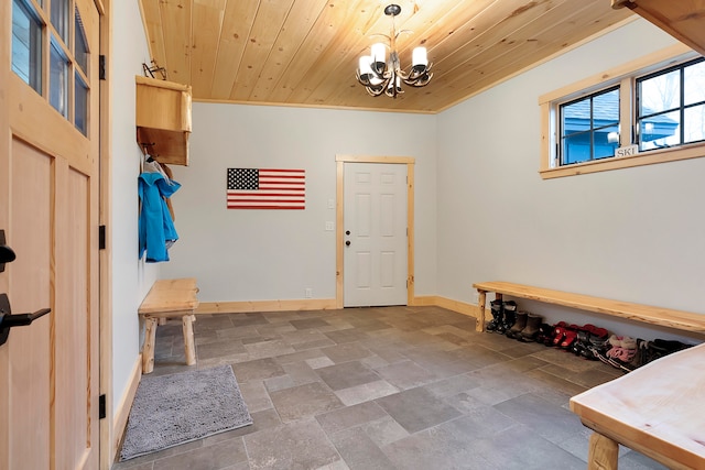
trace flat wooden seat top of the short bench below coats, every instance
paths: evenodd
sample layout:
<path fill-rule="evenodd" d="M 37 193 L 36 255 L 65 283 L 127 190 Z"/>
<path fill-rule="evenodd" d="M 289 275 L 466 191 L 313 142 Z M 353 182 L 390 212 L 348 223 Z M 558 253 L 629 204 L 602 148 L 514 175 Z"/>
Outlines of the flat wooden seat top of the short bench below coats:
<path fill-rule="evenodd" d="M 197 292 L 195 277 L 159 280 L 152 285 L 138 311 L 147 315 L 194 310 L 198 308 Z"/>

